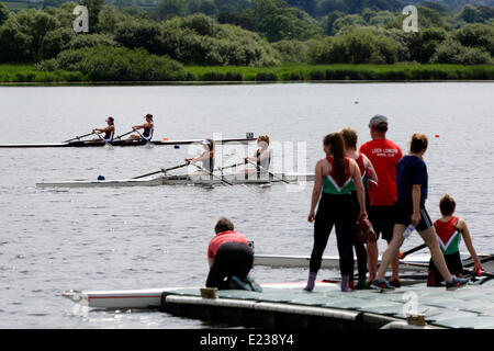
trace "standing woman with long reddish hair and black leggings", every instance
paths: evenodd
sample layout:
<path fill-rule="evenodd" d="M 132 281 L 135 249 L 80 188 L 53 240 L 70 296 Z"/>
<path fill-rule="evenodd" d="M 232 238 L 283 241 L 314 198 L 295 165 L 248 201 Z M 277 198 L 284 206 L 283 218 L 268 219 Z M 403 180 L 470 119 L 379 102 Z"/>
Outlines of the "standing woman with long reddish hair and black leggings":
<path fill-rule="evenodd" d="M 367 217 L 366 194 L 359 166 L 355 160 L 345 156 L 345 145 L 339 133 L 325 136 L 324 152 L 326 158 L 318 160 L 315 167 L 311 211 L 307 217 L 308 222 L 314 222 L 314 247 L 305 290 L 314 288 L 323 252 L 333 226 L 335 226 L 341 271 L 341 291 L 351 292 L 349 280 L 353 273 L 352 237 L 356 219 L 351 199 L 351 181 L 355 182 L 360 204 L 358 218 Z M 317 203 L 317 214 L 315 214 Z"/>

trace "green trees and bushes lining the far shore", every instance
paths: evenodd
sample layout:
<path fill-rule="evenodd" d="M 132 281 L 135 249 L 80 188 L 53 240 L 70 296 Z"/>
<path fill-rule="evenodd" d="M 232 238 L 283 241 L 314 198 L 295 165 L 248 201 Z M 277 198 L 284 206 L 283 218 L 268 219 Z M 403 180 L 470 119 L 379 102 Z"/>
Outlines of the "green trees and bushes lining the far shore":
<path fill-rule="evenodd" d="M 190 14 L 192 2 L 197 11 Z M 161 0 L 147 13 L 82 0 L 89 33 L 72 29 L 75 2 L 16 13 L 0 2 L 0 63 L 75 70 L 94 80 L 187 80 L 183 65 L 493 63 L 494 14 L 485 5 L 453 12 L 424 2 L 419 31 L 405 33 L 405 15 L 393 10 L 401 5 L 394 0 L 345 1 L 347 8 L 328 7 L 330 12 L 318 18 L 310 12 L 319 11 L 321 1 L 312 10 L 305 8 L 311 1 L 192 2 Z M 222 12 L 206 14 L 220 4 Z"/>

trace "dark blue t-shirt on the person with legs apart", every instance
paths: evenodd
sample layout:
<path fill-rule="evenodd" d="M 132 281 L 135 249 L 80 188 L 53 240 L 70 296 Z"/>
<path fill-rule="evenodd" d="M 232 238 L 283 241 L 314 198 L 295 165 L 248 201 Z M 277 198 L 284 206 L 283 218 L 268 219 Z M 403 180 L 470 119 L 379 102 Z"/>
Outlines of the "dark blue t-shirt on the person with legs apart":
<path fill-rule="evenodd" d="M 425 203 L 428 193 L 427 166 L 416 156 L 404 156 L 396 165 L 396 194 L 402 201 L 412 202 L 413 185 L 420 184 L 420 203 Z"/>

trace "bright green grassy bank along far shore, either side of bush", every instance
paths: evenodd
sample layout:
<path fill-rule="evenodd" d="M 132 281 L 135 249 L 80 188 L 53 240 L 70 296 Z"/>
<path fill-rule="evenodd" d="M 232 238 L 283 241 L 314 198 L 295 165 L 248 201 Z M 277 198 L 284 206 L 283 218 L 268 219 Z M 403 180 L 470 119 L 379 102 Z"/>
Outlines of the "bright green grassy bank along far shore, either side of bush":
<path fill-rule="evenodd" d="M 273 67 L 189 66 L 189 81 L 324 81 L 324 80 L 494 80 L 494 65 L 304 65 Z M 90 82 L 78 71 L 38 71 L 34 65 L 0 65 L 0 83 Z"/>

